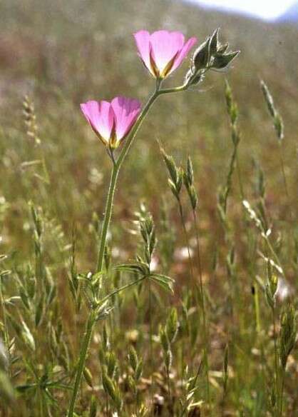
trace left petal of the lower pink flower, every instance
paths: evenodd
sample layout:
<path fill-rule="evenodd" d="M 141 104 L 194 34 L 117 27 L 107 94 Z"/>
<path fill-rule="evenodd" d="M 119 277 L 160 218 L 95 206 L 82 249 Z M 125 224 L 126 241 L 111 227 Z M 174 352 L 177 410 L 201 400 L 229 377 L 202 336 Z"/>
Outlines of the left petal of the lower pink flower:
<path fill-rule="evenodd" d="M 98 133 L 102 139 L 108 141 L 111 137 L 114 118 L 113 109 L 108 101 L 87 101 L 81 104 L 81 111 L 88 120 L 92 129 Z"/>

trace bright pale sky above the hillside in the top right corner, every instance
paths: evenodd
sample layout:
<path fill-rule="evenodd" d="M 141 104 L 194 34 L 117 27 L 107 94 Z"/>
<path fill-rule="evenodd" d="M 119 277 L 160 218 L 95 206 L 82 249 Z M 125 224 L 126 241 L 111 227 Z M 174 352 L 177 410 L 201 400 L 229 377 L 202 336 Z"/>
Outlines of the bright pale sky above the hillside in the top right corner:
<path fill-rule="evenodd" d="M 219 6 L 249 13 L 264 19 L 274 19 L 289 9 L 297 0 L 192 0 L 206 6 Z"/>

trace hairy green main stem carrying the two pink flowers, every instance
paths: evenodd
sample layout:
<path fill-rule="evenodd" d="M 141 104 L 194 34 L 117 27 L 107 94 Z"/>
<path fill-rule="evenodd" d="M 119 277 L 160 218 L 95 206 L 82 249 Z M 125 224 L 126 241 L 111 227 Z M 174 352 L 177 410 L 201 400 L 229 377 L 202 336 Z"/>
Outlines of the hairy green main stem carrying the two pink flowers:
<path fill-rule="evenodd" d="M 112 174 L 111 174 L 110 186 L 108 189 L 106 211 L 105 211 L 104 218 L 103 218 L 103 227 L 101 230 L 101 239 L 100 239 L 100 244 L 99 244 L 99 249 L 98 249 L 98 260 L 96 264 L 96 271 L 101 271 L 103 269 L 104 253 L 105 253 L 105 248 L 106 248 L 106 238 L 108 234 L 108 228 L 111 222 L 111 216 L 112 216 L 112 211 L 113 211 L 113 198 L 115 194 L 115 188 L 117 184 L 120 167 L 122 166 L 123 161 L 125 157 L 127 156 L 130 150 L 130 147 L 133 144 L 135 136 L 138 133 L 138 129 L 140 128 L 140 125 L 142 124 L 143 120 L 145 119 L 145 116 L 148 114 L 148 111 L 150 110 L 155 100 L 158 99 L 158 96 L 163 95 L 163 94 L 178 93 L 180 91 L 187 90 L 187 84 L 183 84 L 182 86 L 178 86 L 173 89 L 160 89 L 160 85 L 161 85 L 161 81 L 157 80 L 155 91 L 150 96 L 147 103 L 145 104 L 143 111 L 140 113 L 140 116 L 135 122 L 133 129 L 131 129 L 130 134 L 128 134 L 128 137 L 125 140 L 123 148 L 120 151 L 120 155 L 118 156 L 118 159 L 113 160 L 113 169 L 112 169 Z M 75 383 L 73 386 L 73 394 L 71 396 L 70 406 L 68 409 L 68 417 L 73 417 L 76 397 L 78 396 L 78 389 L 81 385 L 81 378 L 83 375 L 83 370 L 85 368 L 86 358 L 88 354 L 88 346 L 91 341 L 91 337 L 93 334 L 93 327 L 95 323 L 96 323 L 96 318 L 94 317 L 93 309 L 91 309 L 88 320 L 87 320 L 85 335 L 84 335 L 83 342 L 81 345 L 81 351 L 79 353 L 78 368 L 76 371 L 76 379 L 75 379 Z"/>

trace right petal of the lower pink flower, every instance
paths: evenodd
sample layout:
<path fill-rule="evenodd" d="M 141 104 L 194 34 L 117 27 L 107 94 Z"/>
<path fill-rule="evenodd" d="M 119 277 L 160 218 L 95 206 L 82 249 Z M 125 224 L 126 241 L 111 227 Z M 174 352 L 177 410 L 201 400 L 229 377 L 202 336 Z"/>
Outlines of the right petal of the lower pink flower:
<path fill-rule="evenodd" d="M 128 134 L 130 128 L 140 114 L 140 101 L 126 99 L 125 97 L 115 97 L 111 101 L 115 117 L 115 133 L 117 141 L 123 139 Z"/>

